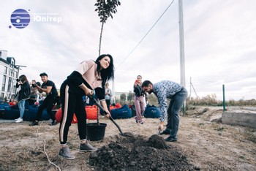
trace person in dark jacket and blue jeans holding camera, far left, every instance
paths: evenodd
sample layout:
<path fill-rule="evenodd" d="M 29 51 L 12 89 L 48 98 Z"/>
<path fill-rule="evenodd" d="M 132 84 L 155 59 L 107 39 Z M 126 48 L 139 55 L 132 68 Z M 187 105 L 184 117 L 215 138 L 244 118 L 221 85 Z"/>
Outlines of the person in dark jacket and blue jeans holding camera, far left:
<path fill-rule="evenodd" d="M 20 110 L 20 118 L 16 119 L 16 123 L 20 123 L 23 121 L 23 115 L 25 113 L 25 102 L 26 99 L 29 99 L 30 96 L 30 86 L 29 81 L 26 78 L 26 75 L 20 75 L 20 77 L 17 79 L 16 88 L 20 88 L 20 91 L 18 91 L 18 107 Z"/>

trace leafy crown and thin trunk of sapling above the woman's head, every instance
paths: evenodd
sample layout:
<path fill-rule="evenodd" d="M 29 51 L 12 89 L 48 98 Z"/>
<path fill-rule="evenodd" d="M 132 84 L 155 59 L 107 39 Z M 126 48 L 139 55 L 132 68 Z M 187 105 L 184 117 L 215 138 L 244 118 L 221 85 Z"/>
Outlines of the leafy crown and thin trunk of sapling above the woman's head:
<path fill-rule="evenodd" d="M 102 31 L 104 23 L 106 23 L 106 20 L 108 20 L 109 17 L 113 18 L 112 14 L 117 12 L 116 7 L 118 5 L 121 5 L 119 0 L 97 0 L 96 4 L 94 4 L 94 6 L 97 6 L 95 11 L 98 12 L 100 22 L 102 23 L 99 36 L 99 55 L 102 44 Z"/>

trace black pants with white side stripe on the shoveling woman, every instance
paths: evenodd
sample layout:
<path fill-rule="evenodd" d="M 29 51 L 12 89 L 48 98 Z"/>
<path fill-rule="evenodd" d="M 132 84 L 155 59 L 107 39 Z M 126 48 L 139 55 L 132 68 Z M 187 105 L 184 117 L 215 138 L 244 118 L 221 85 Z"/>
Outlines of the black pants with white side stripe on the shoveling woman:
<path fill-rule="evenodd" d="M 83 97 L 69 93 L 67 83 L 61 85 L 61 110 L 62 117 L 59 126 L 59 140 L 61 144 L 67 143 L 67 134 L 69 126 L 75 113 L 78 119 L 78 133 L 80 140 L 86 139 L 86 109 L 83 103 Z"/>

